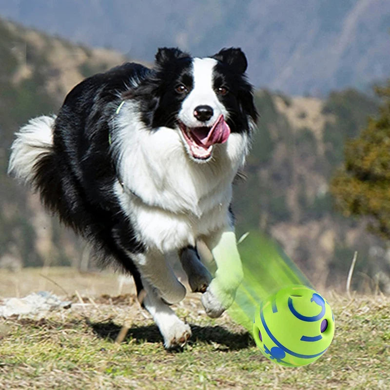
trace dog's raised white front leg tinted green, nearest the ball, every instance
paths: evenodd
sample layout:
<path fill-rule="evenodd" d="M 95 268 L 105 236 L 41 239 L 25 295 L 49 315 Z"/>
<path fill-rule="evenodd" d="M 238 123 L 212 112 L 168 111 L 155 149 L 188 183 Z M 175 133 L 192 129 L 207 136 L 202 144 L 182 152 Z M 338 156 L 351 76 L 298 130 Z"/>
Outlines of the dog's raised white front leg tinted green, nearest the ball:
<path fill-rule="evenodd" d="M 233 303 L 243 278 L 241 259 L 233 228 L 204 237 L 204 241 L 213 254 L 217 269 L 201 299 L 207 315 L 219 317 Z"/>

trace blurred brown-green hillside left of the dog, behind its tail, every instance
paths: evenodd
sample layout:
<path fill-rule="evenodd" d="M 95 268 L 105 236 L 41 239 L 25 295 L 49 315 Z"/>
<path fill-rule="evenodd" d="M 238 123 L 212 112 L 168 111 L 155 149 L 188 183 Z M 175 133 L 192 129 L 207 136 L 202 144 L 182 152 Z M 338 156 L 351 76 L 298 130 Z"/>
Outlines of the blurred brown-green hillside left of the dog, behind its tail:
<path fill-rule="evenodd" d="M 14 133 L 29 118 L 56 112 L 82 78 L 125 61 L 0 19 L 0 264 L 79 262 L 84 247 L 6 176 Z"/>

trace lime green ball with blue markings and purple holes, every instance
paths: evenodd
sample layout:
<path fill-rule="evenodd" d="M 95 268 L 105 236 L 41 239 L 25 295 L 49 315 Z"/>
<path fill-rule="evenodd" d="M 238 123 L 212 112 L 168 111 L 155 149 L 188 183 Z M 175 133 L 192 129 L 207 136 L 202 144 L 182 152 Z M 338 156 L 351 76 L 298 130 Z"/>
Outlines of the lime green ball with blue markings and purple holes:
<path fill-rule="evenodd" d="M 253 334 L 264 356 L 284 366 L 304 366 L 331 345 L 334 317 L 318 292 L 292 285 L 261 303 L 254 315 Z"/>

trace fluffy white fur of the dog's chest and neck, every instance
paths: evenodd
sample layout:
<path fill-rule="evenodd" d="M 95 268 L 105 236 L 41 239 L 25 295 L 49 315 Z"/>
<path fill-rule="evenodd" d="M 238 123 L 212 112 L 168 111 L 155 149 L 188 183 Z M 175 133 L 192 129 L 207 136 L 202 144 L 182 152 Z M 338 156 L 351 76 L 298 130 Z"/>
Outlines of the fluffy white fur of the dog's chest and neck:
<path fill-rule="evenodd" d="M 120 205 L 139 241 L 166 252 L 195 245 L 201 234 L 229 224 L 232 181 L 244 163 L 246 135 L 231 134 L 207 163 L 191 161 L 178 131 L 143 128 L 126 102 L 117 118 L 113 146 L 120 150 L 115 185 Z"/>

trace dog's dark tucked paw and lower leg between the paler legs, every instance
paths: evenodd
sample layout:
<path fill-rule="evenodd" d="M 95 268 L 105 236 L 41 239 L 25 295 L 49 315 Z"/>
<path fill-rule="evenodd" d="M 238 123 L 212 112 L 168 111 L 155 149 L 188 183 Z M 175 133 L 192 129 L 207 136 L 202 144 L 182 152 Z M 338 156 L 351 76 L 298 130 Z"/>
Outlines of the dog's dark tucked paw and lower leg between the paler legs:
<path fill-rule="evenodd" d="M 194 247 L 187 247 L 180 252 L 180 262 L 188 276 L 188 283 L 193 292 L 205 292 L 212 275 L 202 264 Z"/>

